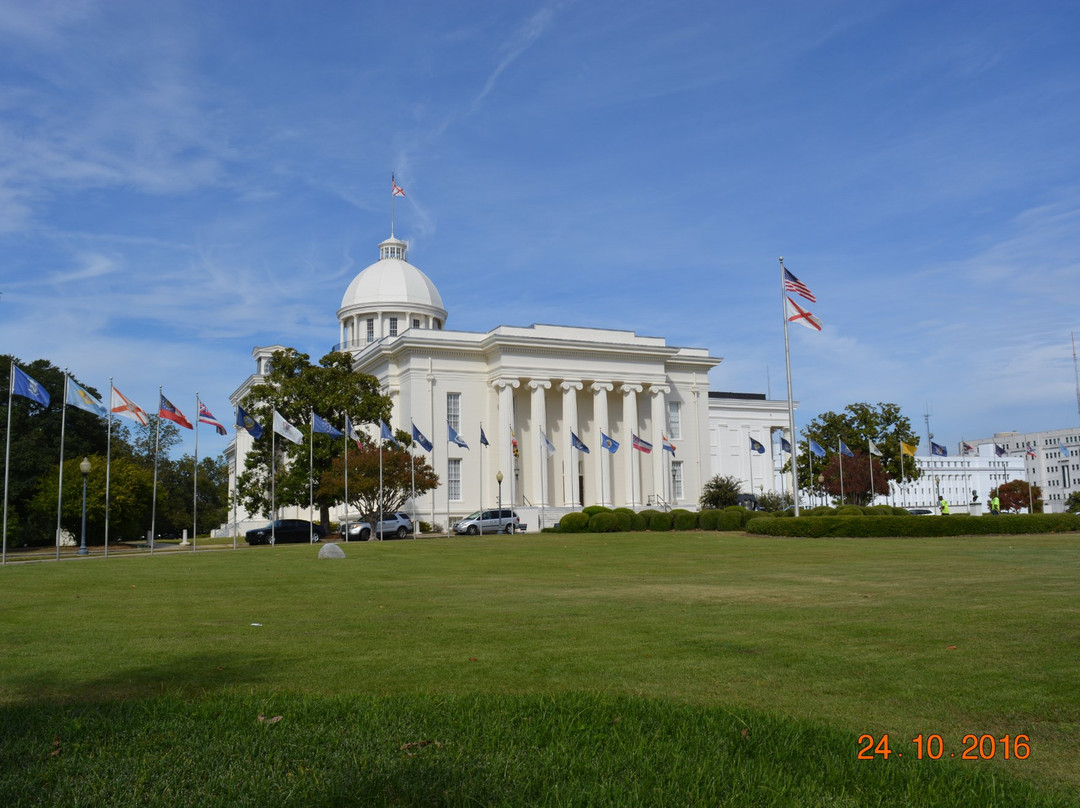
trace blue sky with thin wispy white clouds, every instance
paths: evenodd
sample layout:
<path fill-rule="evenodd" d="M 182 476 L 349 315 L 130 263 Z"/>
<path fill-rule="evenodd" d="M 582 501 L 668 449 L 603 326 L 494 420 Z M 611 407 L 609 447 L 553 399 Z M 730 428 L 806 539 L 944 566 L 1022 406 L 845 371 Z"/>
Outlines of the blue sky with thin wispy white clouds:
<path fill-rule="evenodd" d="M 390 230 L 447 327 L 704 347 L 801 425 L 1080 422 L 1080 6 L 0 0 L 0 351 L 222 420 Z M 202 431 L 201 453 L 226 439 Z M 924 446 L 923 440 L 923 446 Z"/>

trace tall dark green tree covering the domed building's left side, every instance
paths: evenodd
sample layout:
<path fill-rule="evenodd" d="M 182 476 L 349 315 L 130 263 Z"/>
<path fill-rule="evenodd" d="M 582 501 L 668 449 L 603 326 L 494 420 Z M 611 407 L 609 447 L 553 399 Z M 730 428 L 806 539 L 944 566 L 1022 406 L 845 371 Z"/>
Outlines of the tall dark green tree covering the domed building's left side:
<path fill-rule="evenodd" d="M 335 458 L 345 453 L 345 441 L 318 434 L 312 447 L 309 443 L 311 413 L 318 413 L 341 429 L 346 416 L 353 423 L 378 423 L 390 417 L 391 409 L 390 398 L 380 393 L 378 380 L 353 372 L 351 354 L 332 351 L 319 361 L 319 365 L 312 365 L 307 353 L 294 348 L 273 352 L 265 381 L 252 387 L 241 406 L 264 426 L 262 437 L 255 441 L 247 453 L 244 471 L 238 480 L 244 508 L 249 513 L 270 515 L 270 470 L 274 468 L 276 503 L 307 506 L 309 491 L 313 491 L 324 525 L 329 523 L 329 509 L 341 501 L 343 490 L 335 495 L 333 487 L 323 487 L 322 479 Z M 274 410 L 300 430 L 305 436 L 302 444 L 284 439 L 272 441 Z M 275 443 L 278 452 L 273 462 L 271 443 Z M 311 488 L 309 450 L 312 453 Z M 351 495 L 351 476 L 349 482 Z"/>

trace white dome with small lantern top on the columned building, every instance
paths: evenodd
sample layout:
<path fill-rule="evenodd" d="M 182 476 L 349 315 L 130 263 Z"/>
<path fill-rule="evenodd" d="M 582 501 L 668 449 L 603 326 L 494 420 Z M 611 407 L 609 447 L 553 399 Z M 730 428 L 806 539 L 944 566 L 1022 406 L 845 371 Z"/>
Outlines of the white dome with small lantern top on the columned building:
<path fill-rule="evenodd" d="M 391 235 L 379 260 L 352 279 L 341 298 L 341 342 L 359 348 L 407 328 L 442 328 L 443 298 L 423 272 L 406 260 L 408 245 Z"/>

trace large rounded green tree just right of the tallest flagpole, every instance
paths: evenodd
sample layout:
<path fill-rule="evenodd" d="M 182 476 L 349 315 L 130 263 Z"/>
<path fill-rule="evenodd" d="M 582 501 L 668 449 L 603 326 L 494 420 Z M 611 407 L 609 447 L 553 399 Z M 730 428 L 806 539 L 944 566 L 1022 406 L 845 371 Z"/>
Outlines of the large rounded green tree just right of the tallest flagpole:
<path fill-rule="evenodd" d="M 811 473 L 811 457 L 809 454 L 807 439 L 812 440 L 826 452 L 825 457 L 813 457 L 813 471 Z M 903 458 L 903 473 L 901 473 L 901 446 L 907 443 L 917 445 L 919 439 L 912 429 L 912 422 L 900 412 L 895 404 L 879 402 L 878 404 L 856 403 L 849 404 L 843 408 L 843 413 L 823 413 L 814 418 L 802 430 L 799 440 L 798 469 L 799 488 L 810 493 L 820 491 L 818 476 L 824 475 L 826 480 L 831 477 L 828 469 L 836 466 L 836 484 L 825 484 L 825 489 L 831 494 L 839 496 L 839 466 L 835 463 L 839 456 L 839 441 L 843 441 L 853 453 L 855 458 L 845 458 L 843 460 L 843 490 L 846 498 L 851 501 L 869 501 L 869 466 L 865 457 L 869 455 L 868 441 L 873 441 L 880 457 L 875 458 L 874 464 L 874 488 L 876 493 L 888 494 L 889 480 L 897 483 L 905 483 L 918 480 L 921 471 L 916 467 L 914 458 Z M 851 481 L 849 485 L 849 466 L 854 469 L 858 466 L 858 455 L 862 450 L 864 458 L 862 464 L 865 474 L 860 481 Z M 832 457 L 829 457 L 832 455 Z M 785 464 L 785 470 L 791 466 Z M 879 485 L 879 480 L 885 483 Z"/>

